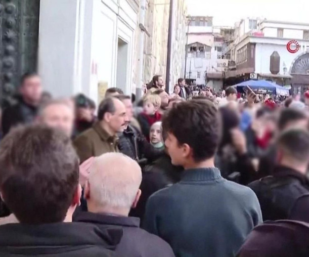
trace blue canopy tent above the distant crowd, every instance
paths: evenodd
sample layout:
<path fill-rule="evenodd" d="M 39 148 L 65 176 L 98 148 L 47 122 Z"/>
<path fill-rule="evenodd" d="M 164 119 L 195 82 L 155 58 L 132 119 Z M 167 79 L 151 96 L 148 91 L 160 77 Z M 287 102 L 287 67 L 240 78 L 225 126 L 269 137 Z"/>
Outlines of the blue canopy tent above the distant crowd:
<path fill-rule="evenodd" d="M 267 80 L 247 80 L 234 85 L 237 88 L 243 88 L 248 85 L 256 93 L 272 93 L 281 96 L 289 96 L 289 90 L 276 83 Z"/>

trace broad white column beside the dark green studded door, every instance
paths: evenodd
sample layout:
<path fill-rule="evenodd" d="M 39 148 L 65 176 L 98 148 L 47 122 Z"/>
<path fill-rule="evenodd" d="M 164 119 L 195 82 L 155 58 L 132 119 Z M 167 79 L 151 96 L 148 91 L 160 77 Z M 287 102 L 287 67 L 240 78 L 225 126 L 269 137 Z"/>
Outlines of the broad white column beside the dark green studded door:
<path fill-rule="evenodd" d="M 40 2 L 38 72 L 44 90 L 54 97 L 88 94 L 84 82 L 89 80 L 90 45 L 84 29 L 91 34 L 92 11 L 92 0 Z"/>

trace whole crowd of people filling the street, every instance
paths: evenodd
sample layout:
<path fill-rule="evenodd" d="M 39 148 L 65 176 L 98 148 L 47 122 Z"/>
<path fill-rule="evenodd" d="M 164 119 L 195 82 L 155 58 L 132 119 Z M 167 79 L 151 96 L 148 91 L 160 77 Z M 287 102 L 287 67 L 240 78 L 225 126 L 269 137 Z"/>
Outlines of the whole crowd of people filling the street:
<path fill-rule="evenodd" d="M 97 107 L 25 74 L 2 115 L 0 255 L 308 256 L 309 101 L 201 92 L 156 75 Z"/>

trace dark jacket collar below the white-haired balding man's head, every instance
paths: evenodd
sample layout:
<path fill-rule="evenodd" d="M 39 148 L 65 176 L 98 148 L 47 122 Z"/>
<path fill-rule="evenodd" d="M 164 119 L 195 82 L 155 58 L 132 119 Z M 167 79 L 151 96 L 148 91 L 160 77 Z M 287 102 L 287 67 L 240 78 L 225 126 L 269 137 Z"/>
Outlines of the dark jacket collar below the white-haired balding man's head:
<path fill-rule="evenodd" d="M 86 222 L 100 225 L 115 225 L 121 227 L 140 227 L 140 219 L 135 217 L 107 215 L 82 211 L 74 218 L 75 222 Z"/>

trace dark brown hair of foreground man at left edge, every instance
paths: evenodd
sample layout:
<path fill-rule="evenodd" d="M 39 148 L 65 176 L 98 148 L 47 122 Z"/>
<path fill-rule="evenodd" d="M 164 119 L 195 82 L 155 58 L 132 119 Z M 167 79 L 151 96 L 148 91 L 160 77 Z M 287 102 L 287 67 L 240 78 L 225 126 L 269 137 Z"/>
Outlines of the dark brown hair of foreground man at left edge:
<path fill-rule="evenodd" d="M 1 142 L 0 189 L 21 223 L 63 222 L 78 186 L 70 138 L 45 125 L 12 130 Z"/>

